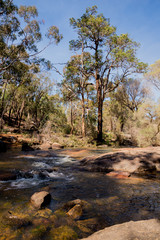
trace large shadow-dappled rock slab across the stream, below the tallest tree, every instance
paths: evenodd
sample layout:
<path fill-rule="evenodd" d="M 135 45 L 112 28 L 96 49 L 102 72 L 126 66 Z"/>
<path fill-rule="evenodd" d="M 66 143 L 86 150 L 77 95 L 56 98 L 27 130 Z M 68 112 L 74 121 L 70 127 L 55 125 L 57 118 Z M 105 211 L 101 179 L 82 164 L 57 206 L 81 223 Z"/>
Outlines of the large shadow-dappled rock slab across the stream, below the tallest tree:
<path fill-rule="evenodd" d="M 80 166 L 91 172 L 104 172 L 111 177 L 160 176 L 160 147 L 122 148 L 112 153 L 80 160 Z"/>

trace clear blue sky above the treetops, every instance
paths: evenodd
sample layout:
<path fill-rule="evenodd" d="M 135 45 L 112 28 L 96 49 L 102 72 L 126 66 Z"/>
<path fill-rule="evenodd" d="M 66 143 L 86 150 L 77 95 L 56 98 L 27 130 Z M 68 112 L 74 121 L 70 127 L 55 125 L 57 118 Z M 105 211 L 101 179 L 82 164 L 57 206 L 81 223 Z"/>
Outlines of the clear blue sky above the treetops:
<path fill-rule="evenodd" d="M 50 25 L 59 27 L 64 38 L 58 46 L 50 46 L 41 56 L 53 63 L 63 63 L 73 54 L 69 41 L 76 34 L 69 18 L 79 18 L 87 7 L 97 5 L 98 12 L 110 18 L 117 33 L 128 33 L 141 44 L 138 58 L 148 64 L 160 59 L 160 0 L 13 0 L 16 5 L 35 5 L 39 19 L 45 20 L 43 30 Z M 42 47 L 45 41 L 41 43 Z M 56 76 L 56 75 L 55 75 Z"/>

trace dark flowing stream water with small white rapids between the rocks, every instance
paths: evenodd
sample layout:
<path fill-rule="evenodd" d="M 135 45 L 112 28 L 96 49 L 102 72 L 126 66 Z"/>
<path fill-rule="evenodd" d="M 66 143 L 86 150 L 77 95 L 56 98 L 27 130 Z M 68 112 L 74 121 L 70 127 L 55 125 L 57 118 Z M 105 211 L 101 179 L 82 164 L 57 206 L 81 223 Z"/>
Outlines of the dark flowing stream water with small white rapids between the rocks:
<path fill-rule="evenodd" d="M 94 150 L 85 154 L 107 151 Z M 0 182 L 0 213 L 23 207 L 33 193 L 48 189 L 52 195 L 52 210 L 73 199 L 86 200 L 94 210 L 90 216 L 83 217 L 98 217 L 103 226 L 160 218 L 159 180 L 115 179 L 104 173 L 80 169 L 78 162 L 62 151 L 58 156 L 52 152 L 49 155 L 29 155 L 20 151 L 1 154 L 1 172 L 12 170 L 18 178 Z"/>

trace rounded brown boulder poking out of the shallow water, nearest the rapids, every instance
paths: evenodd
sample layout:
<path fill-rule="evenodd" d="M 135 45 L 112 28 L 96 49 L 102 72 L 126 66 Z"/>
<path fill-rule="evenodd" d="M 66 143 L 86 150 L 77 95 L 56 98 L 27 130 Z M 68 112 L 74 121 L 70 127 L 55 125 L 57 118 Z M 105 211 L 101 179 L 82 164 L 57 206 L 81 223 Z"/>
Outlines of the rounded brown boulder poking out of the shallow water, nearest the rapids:
<path fill-rule="evenodd" d="M 51 194 L 46 191 L 36 192 L 31 197 L 32 205 L 37 208 L 41 209 L 49 204 L 51 201 Z"/>

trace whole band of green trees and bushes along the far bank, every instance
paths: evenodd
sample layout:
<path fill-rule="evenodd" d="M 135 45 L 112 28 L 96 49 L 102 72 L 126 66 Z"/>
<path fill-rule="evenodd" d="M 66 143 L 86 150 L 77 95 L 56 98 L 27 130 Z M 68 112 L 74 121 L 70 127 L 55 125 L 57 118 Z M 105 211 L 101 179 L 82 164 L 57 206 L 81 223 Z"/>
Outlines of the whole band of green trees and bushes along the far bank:
<path fill-rule="evenodd" d="M 71 18 L 70 24 L 77 32 L 77 39 L 70 41 L 76 55 L 64 67 L 57 94 L 43 72 L 52 64 L 38 54 L 62 40 L 59 29 L 49 27 L 48 43 L 39 50 L 43 35 L 36 7 L 18 8 L 10 0 L 0 0 L 1 128 L 5 120 L 49 137 L 56 133 L 60 143 L 74 147 L 94 142 L 97 131 L 98 139 L 104 136 L 108 144 L 127 134 L 138 146 L 159 144 L 159 105 L 146 103 L 141 81 L 129 78 L 147 69 L 136 57 L 139 44 L 127 33 L 118 35 L 96 6 Z M 151 65 L 145 76 L 160 89 L 159 65 L 160 61 Z"/>

